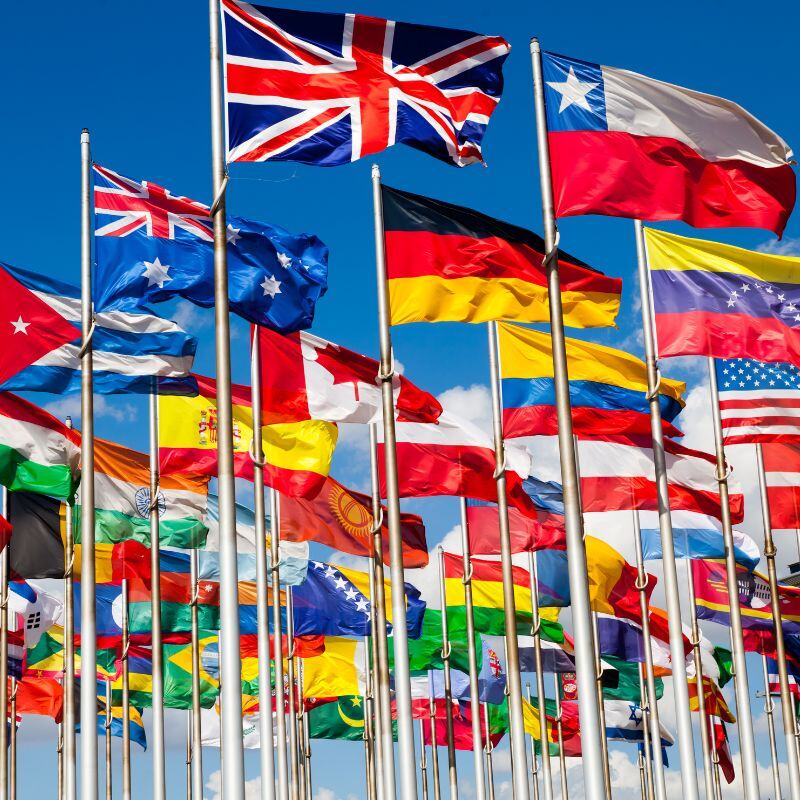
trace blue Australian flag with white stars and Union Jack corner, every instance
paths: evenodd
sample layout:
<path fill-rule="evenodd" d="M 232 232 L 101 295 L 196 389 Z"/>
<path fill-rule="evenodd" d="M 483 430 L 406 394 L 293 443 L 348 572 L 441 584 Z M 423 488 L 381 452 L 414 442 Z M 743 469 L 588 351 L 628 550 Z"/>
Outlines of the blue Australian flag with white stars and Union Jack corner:
<path fill-rule="evenodd" d="M 208 206 L 95 165 L 97 311 L 141 312 L 183 297 L 214 305 L 214 234 Z M 316 236 L 294 235 L 228 217 L 230 309 L 280 333 L 311 326 L 328 287 L 328 248 Z"/>

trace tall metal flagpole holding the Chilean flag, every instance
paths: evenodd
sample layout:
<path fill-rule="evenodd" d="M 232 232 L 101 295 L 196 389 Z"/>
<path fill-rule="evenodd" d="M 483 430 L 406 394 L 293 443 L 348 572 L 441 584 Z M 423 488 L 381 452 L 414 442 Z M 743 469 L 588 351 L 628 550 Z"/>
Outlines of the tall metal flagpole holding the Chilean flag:
<path fill-rule="evenodd" d="M 561 306 L 561 283 L 558 274 L 558 236 L 553 211 L 553 187 L 550 176 L 550 149 L 545 119 L 542 58 L 537 39 L 531 40 L 533 84 L 536 98 L 536 140 L 539 152 L 539 184 L 542 194 L 542 217 L 547 255 L 547 287 L 550 304 L 550 331 L 553 342 L 553 375 L 558 412 L 558 445 L 561 457 L 561 484 L 564 494 L 564 523 L 567 538 L 569 586 L 572 597 L 572 621 L 575 635 L 575 667 L 580 702 L 581 748 L 587 800 L 605 797 L 603 740 L 600 706 L 595 692 L 592 658 L 592 617 L 589 582 L 586 573 L 586 550 L 578 500 L 578 476 L 575 469 L 575 445 L 572 439 L 572 411 L 569 399 L 567 354 L 564 343 L 564 318 Z M 686 800 L 696 800 L 688 797 Z"/>

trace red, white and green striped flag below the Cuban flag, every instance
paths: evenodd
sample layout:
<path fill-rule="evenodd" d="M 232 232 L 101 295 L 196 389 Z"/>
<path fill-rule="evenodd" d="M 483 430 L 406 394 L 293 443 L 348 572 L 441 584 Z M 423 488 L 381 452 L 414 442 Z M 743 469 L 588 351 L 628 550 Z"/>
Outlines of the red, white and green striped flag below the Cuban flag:
<path fill-rule="evenodd" d="M 0 393 L 0 484 L 53 497 L 72 497 L 81 435 L 38 406 Z"/>

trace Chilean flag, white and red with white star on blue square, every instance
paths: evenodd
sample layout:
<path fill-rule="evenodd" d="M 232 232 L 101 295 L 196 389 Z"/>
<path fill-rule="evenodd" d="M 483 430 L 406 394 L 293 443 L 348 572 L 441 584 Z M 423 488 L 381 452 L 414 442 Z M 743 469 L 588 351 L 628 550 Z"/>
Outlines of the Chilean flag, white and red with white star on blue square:
<path fill-rule="evenodd" d="M 556 216 L 782 233 L 792 151 L 741 106 L 553 53 L 542 66 Z"/>

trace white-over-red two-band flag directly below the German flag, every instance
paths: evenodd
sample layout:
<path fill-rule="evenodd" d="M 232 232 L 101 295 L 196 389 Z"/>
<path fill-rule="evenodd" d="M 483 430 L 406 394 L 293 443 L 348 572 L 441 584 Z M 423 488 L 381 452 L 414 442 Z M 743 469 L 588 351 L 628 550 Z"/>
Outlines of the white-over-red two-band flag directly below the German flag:
<path fill-rule="evenodd" d="M 398 422 L 395 433 L 401 497 L 455 495 L 497 502 L 494 444 L 489 434 L 476 425 L 444 413 L 434 425 Z M 378 436 L 383 438 L 380 427 Z M 381 497 L 386 496 L 383 447 L 381 441 L 378 445 Z M 506 447 L 505 456 L 509 504 L 535 515 L 522 486 L 530 472 L 530 458 L 513 445 Z"/>

